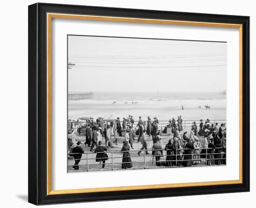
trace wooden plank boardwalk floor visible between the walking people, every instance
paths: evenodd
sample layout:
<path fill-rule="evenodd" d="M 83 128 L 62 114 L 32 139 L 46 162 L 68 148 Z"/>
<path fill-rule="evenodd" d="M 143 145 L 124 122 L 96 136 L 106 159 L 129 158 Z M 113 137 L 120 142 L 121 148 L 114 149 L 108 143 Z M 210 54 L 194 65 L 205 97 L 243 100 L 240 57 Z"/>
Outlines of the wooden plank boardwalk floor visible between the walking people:
<path fill-rule="evenodd" d="M 122 152 L 121 152 L 121 147 L 122 147 L 122 141 L 124 141 L 124 137 L 119 138 L 119 141 L 117 145 L 113 144 L 114 148 L 108 149 L 107 154 L 109 159 L 106 161 L 105 168 L 102 169 L 102 164 L 95 162 L 95 157 L 96 154 L 94 152 L 90 152 L 90 147 L 85 146 L 85 136 L 83 135 L 77 135 L 79 141 L 82 142 L 81 147 L 85 150 L 85 153 L 89 154 L 83 154 L 81 158 L 81 162 L 79 163 L 79 170 L 74 170 L 72 166 L 74 165 L 74 159 L 71 157 L 68 159 L 68 172 L 84 172 L 84 171 L 108 171 L 108 170 L 120 170 L 121 169 L 121 162 L 122 162 Z M 171 136 L 161 136 L 161 144 L 162 148 L 165 148 L 165 145 L 168 143 L 168 138 Z M 152 162 L 153 156 L 151 153 L 151 148 L 153 145 L 152 137 L 147 138 L 147 143 L 148 143 L 148 150 L 149 154 L 146 155 L 145 161 L 144 162 L 144 152 L 141 152 L 140 156 L 137 154 L 138 150 L 141 148 L 141 143 L 137 143 L 138 137 L 135 138 L 134 142 L 134 150 L 130 148 L 133 152 L 130 152 L 131 155 L 131 160 L 133 162 L 133 167 L 131 169 L 146 169 L 150 168 L 170 168 L 170 167 L 165 167 L 165 166 L 156 166 L 155 162 Z M 113 140 L 113 139 L 112 139 Z M 202 138 L 200 138 L 200 141 L 202 143 Z M 102 139 L 103 144 L 105 145 L 105 139 Z M 111 156 L 113 154 L 113 164 L 112 164 L 112 159 Z M 161 157 L 161 160 L 165 160 L 166 158 L 166 151 L 163 151 L 164 156 Z M 88 164 L 87 164 L 87 155 L 88 155 Z M 205 159 L 202 159 L 202 162 L 200 165 L 193 165 L 193 166 L 204 166 L 205 165 Z M 174 167 L 179 167 L 179 166 L 174 166 Z"/>

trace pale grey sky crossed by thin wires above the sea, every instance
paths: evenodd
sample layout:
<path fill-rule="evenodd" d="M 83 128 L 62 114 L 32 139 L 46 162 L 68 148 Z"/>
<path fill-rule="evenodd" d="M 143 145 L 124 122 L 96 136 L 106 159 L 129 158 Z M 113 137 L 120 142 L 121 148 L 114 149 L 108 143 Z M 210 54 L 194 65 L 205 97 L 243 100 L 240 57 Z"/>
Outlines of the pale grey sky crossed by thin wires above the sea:
<path fill-rule="evenodd" d="M 227 43 L 68 36 L 68 92 L 218 92 Z"/>

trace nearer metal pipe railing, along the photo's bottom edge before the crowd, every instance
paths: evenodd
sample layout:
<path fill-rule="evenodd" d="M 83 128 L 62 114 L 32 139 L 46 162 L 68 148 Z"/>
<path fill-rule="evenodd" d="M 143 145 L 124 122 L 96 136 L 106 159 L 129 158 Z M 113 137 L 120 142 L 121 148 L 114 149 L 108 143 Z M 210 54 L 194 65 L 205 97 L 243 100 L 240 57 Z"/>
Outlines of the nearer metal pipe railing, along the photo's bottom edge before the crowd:
<path fill-rule="evenodd" d="M 209 153 L 209 150 L 222 150 L 218 153 Z M 184 154 L 185 151 L 193 151 L 192 154 Z M 194 153 L 195 150 L 205 150 L 205 153 Z M 123 154 L 124 152 L 128 152 L 128 153 L 136 153 L 138 151 L 143 152 L 143 155 L 130 155 L 130 156 L 120 156 L 121 154 Z M 156 151 L 162 151 L 163 154 L 162 155 L 152 155 L 152 154 L 146 154 L 146 151 L 151 151 L 151 152 L 156 152 Z M 168 154 L 167 155 L 167 151 L 171 151 L 173 154 Z M 202 152 L 202 151 L 201 151 Z M 97 158 L 95 155 L 97 154 L 101 154 L 101 153 L 106 153 L 108 154 L 108 157 L 100 157 Z M 181 154 L 182 153 L 182 154 Z M 132 163 L 134 164 L 138 164 L 137 166 L 133 166 L 132 169 L 153 169 L 155 168 L 155 166 L 153 165 L 154 162 L 155 163 L 161 163 L 161 166 L 157 166 L 157 168 L 159 167 L 166 167 L 166 168 L 175 168 L 175 167 L 184 167 L 184 166 L 209 166 L 209 165 L 225 165 L 226 164 L 226 148 L 199 148 L 199 149 L 170 149 L 170 150 L 128 150 L 128 151 L 107 151 L 107 152 L 88 152 L 88 153 L 70 153 L 72 155 L 86 155 L 85 158 L 80 158 L 80 159 L 69 159 L 68 161 L 70 164 L 68 164 L 68 167 L 75 167 L 75 166 L 80 166 L 82 167 L 82 169 L 80 169 L 80 171 L 99 171 L 102 170 L 101 166 L 103 163 L 90 163 L 90 161 L 95 161 L 96 159 L 107 159 L 106 161 L 108 161 L 109 159 L 111 159 L 111 162 L 108 161 L 108 163 L 104 163 L 105 164 L 105 169 L 106 170 L 118 170 L 118 169 L 122 169 L 122 164 L 126 164 L 126 163 Z M 110 155 L 110 156 L 109 156 Z M 115 156 L 118 155 L 118 156 Z M 171 160 L 167 160 L 167 157 L 170 156 Z M 190 156 L 191 158 L 189 159 L 184 159 L 184 157 Z M 199 158 L 195 158 L 195 156 L 199 156 Z M 201 156 L 205 156 L 205 158 L 202 158 Z M 149 158 L 152 157 L 152 160 Z M 156 161 L 156 157 L 161 158 L 159 161 Z M 132 160 L 131 162 L 122 162 L 121 159 L 123 158 L 141 158 L 141 161 L 136 161 L 136 160 Z M 155 158 L 155 161 L 154 161 Z M 148 160 L 147 160 L 148 159 Z M 72 161 L 86 161 L 86 163 L 83 164 L 78 164 L 78 165 L 74 165 L 71 164 Z M 220 160 L 219 164 L 217 163 L 217 161 Z M 194 163 L 194 162 L 202 162 L 200 164 Z M 191 162 L 191 164 L 186 165 L 186 163 L 184 162 Z M 170 164 L 168 164 L 170 163 Z M 170 166 L 167 166 L 170 165 Z M 92 168 L 92 166 L 96 166 L 96 168 Z M 98 167 L 97 167 L 98 166 Z M 90 169 L 91 168 L 91 169 Z M 70 172 L 70 170 L 68 171 Z"/>

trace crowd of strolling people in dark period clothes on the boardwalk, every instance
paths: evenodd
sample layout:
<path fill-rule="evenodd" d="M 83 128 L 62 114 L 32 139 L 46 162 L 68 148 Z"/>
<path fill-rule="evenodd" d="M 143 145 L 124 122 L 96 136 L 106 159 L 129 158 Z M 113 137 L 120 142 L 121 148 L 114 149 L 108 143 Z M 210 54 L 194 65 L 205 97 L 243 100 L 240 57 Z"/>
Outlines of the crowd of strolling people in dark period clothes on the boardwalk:
<path fill-rule="evenodd" d="M 170 131 L 172 132 L 171 138 L 168 138 L 168 143 L 163 149 L 161 137 Z M 152 136 L 153 146 L 150 151 L 157 166 L 198 165 L 202 158 L 207 158 L 207 165 L 226 164 L 225 123 L 221 123 L 219 126 L 218 123 L 211 123 L 209 119 L 205 123 L 201 119 L 199 129 L 196 122 L 193 122 L 190 133 L 183 131 L 182 116 L 178 116 L 177 120 L 170 119 L 163 130 L 159 130 L 157 117 L 154 117 L 153 120 L 148 117 L 147 122 L 139 117 L 136 125 L 133 116 L 123 117 L 122 122 L 120 117 L 117 117 L 115 122 L 109 124 L 105 123 L 102 118 L 98 118 L 96 122 L 89 119 L 86 124 L 85 145 L 90 147 L 90 151 L 96 153 L 96 162 L 102 163 L 102 168 L 104 168 L 105 161 L 108 160 L 108 149 L 113 148 L 113 144 L 117 145 L 119 137 L 124 136 L 121 148 L 121 152 L 123 152 L 121 168 L 127 169 L 133 167 L 129 151 L 130 148 L 134 149 L 136 135 L 138 136 L 137 142 L 141 143 L 141 149 L 137 152 L 138 156 L 142 150 L 145 151 L 145 155 L 149 154 L 146 135 L 148 135 L 147 138 Z M 103 137 L 105 138 L 105 145 L 102 144 Z M 113 137 L 114 140 L 112 141 Z M 161 161 L 160 158 L 164 156 L 163 150 L 166 151 L 166 159 Z M 82 153 L 81 142 L 78 141 L 77 147 L 70 154 L 76 155 L 74 156 L 74 169 L 79 169 L 78 163 Z"/>

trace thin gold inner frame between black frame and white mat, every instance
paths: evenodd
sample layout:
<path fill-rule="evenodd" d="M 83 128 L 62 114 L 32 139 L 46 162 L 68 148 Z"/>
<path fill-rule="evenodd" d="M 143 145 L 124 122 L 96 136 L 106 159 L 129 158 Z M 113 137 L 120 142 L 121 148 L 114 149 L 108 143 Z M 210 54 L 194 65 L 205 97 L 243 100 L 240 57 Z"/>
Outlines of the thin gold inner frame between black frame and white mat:
<path fill-rule="evenodd" d="M 53 18 L 60 19 L 77 19 L 77 20 L 100 20 L 100 21 L 119 21 L 119 22 L 138 22 L 152 24 L 167 24 L 167 25 L 185 25 L 185 26 L 212 26 L 212 27 L 228 27 L 239 28 L 239 180 L 230 181 L 215 181 L 215 182 L 189 182 L 189 183 L 172 183 L 172 184 L 157 184 L 157 185 L 141 185 L 141 186 L 122 186 L 122 187 L 107 187 L 107 188 L 88 188 L 88 189 L 66 189 L 52 190 L 52 171 L 51 171 L 51 23 Z M 63 13 L 47 13 L 47 195 L 60 194 L 77 194 L 77 193 L 93 193 L 106 191 L 124 191 L 124 190 L 142 190 L 142 189 L 163 189 L 163 188 L 178 188 L 178 187 L 196 187 L 224 184 L 243 183 L 243 25 L 240 24 L 225 24 L 213 22 L 195 22 L 195 21 L 179 21 L 179 20 L 156 20 L 142 18 L 123 18 L 123 17 L 108 17 L 108 16 L 92 16 L 92 15 L 75 15 Z"/>

